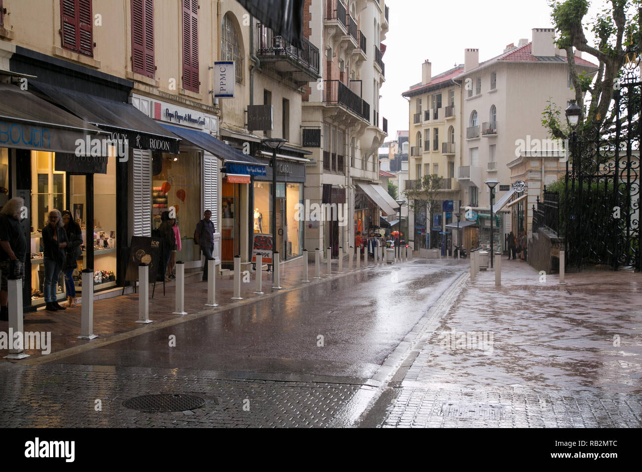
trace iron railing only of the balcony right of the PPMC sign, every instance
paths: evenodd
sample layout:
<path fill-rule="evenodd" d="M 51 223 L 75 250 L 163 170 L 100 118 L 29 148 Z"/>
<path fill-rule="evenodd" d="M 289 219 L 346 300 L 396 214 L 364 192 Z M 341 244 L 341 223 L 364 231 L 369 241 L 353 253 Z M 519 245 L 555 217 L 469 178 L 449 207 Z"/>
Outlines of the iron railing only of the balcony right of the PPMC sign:
<path fill-rule="evenodd" d="M 318 76 L 319 50 L 308 39 L 301 38 L 301 41 L 303 49 L 292 46 L 282 36 L 275 36 L 272 28 L 268 28 L 264 24 L 257 24 L 256 52 L 258 56 L 282 57 L 284 60 L 293 60 L 301 67 L 309 69 L 313 75 Z"/>

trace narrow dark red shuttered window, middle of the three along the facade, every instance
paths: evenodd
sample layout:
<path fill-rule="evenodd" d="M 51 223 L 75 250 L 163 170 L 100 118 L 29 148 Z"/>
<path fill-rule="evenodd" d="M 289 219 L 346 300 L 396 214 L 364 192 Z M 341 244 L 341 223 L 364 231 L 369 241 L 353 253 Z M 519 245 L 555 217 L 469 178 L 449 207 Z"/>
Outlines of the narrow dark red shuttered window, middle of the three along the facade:
<path fill-rule="evenodd" d="M 132 0 L 132 71 L 154 78 L 154 0 Z"/>

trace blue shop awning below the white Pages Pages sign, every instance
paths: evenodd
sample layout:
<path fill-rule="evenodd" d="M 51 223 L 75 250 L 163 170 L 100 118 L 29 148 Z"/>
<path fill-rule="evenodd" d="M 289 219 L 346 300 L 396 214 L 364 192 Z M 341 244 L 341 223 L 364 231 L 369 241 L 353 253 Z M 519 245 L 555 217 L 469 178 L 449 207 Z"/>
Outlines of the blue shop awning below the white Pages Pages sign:
<path fill-rule="evenodd" d="M 198 130 L 189 130 L 187 128 L 179 128 L 172 125 L 161 125 L 173 134 L 176 134 L 189 143 L 195 144 L 199 148 L 211 152 L 213 155 L 220 157 L 225 162 L 226 173 L 230 174 L 247 174 L 247 175 L 265 175 L 265 166 L 263 162 L 232 148 L 228 144 L 223 143 L 209 133 L 204 133 Z"/>

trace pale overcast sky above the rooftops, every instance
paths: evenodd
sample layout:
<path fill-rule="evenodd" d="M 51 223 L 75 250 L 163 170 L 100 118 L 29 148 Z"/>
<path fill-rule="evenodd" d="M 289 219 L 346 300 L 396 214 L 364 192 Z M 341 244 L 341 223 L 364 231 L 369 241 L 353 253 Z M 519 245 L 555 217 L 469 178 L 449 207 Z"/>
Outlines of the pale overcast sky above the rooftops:
<path fill-rule="evenodd" d="M 387 0 L 390 30 L 383 40 L 386 82 L 381 116 L 388 139 L 408 129 L 408 101 L 401 94 L 421 82 L 421 64 L 432 62 L 433 76 L 464 64 L 464 49 L 479 48 L 480 62 L 519 39 L 532 40 L 532 28 L 552 28 L 548 0 Z M 591 1 L 591 16 L 603 0 Z M 591 40 L 589 40 L 591 44 Z M 588 58 L 588 57 L 587 57 Z M 597 64 L 597 61 L 594 60 Z"/>

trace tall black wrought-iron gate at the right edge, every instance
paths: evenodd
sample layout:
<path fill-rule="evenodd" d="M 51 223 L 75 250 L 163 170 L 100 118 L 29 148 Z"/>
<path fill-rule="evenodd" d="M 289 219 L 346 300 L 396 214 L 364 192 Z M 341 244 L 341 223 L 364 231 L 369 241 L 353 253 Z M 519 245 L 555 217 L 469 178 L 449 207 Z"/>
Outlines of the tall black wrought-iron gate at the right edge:
<path fill-rule="evenodd" d="M 642 270 L 640 211 L 639 55 L 614 85 L 616 121 L 610 129 L 571 135 L 560 198 L 566 263 Z M 569 168 L 570 166 L 570 168 Z"/>

